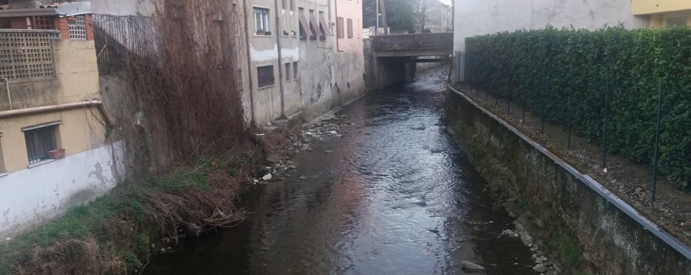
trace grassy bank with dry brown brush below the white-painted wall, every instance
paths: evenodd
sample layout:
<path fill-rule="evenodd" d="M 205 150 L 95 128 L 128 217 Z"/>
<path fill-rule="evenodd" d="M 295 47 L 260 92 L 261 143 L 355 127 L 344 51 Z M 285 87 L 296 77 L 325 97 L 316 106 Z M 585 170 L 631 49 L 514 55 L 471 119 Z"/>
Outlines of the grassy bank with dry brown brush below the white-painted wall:
<path fill-rule="evenodd" d="M 150 251 L 244 218 L 235 208 L 255 157 L 231 155 L 161 176 L 127 181 L 95 201 L 10 241 L 0 240 L 0 274 L 125 274 Z M 156 246 L 158 245 L 158 246 Z"/>

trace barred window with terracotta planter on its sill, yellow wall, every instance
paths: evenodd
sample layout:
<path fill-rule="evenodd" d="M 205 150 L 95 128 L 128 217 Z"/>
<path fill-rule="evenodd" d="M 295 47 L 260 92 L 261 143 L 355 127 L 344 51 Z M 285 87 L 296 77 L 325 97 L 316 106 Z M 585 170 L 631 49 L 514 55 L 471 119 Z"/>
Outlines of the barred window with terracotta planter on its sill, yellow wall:
<path fill-rule="evenodd" d="M 48 151 L 57 149 L 56 133 L 57 124 L 24 130 L 29 164 L 48 159 Z"/>

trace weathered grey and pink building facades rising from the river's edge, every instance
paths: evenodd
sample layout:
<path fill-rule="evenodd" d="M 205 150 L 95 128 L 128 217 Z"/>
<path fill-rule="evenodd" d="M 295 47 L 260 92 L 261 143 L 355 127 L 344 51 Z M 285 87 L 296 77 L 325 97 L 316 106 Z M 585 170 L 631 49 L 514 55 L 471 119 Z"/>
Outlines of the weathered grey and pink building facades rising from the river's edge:
<path fill-rule="evenodd" d="M 314 118 L 364 93 L 361 0 L 253 0 L 242 10 L 251 20 L 238 74 L 253 123 Z"/>

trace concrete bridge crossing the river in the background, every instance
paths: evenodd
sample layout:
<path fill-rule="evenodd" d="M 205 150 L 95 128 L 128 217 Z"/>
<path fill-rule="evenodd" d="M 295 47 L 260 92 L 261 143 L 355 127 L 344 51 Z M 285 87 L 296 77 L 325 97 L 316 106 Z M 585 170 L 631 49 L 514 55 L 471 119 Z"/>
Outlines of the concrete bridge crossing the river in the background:
<path fill-rule="evenodd" d="M 364 51 L 368 87 L 386 87 L 404 82 L 413 64 L 448 60 L 454 33 L 377 35 L 364 39 Z"/>

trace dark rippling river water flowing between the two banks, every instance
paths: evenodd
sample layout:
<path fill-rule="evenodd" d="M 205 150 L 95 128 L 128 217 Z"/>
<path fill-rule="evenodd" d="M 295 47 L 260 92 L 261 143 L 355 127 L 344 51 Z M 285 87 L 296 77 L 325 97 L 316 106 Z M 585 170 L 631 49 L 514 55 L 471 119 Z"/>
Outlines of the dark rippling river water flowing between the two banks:
<path fill-rule="evenodd" d="M 148 274 L 535 274 L 531 252 L 447 133 L 445 72 L 364 96 L 355 123 L 294 157 L 294 177 L 262 184 L 236 227 L 154 257 Z M 333 152 L 325 152 L 333 151 Z M 304 175 L 307 179 L 298 179 Z"/>

